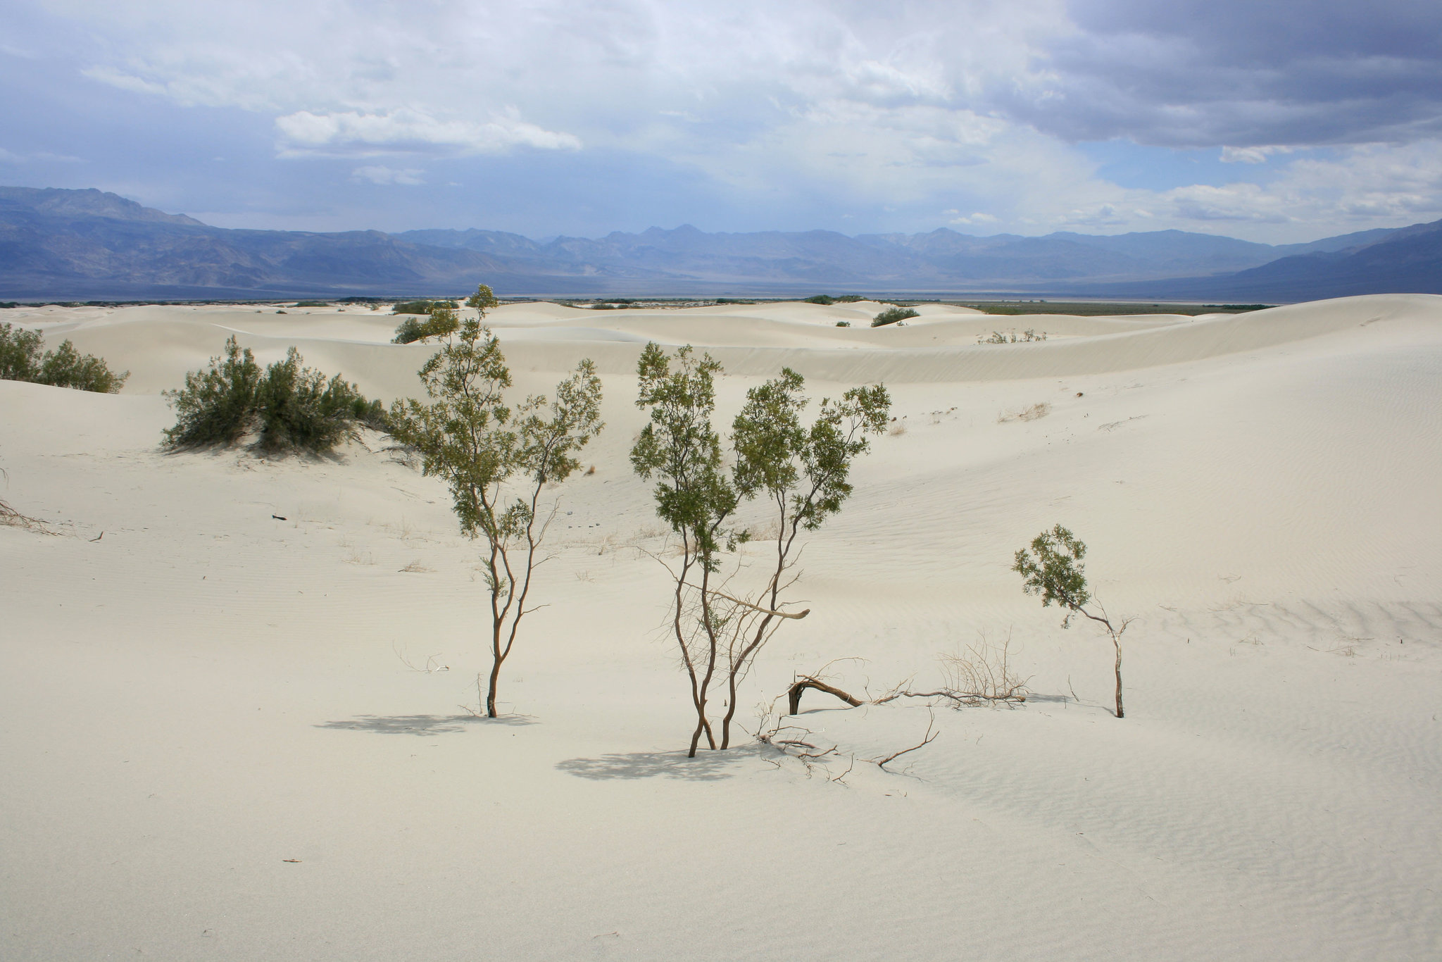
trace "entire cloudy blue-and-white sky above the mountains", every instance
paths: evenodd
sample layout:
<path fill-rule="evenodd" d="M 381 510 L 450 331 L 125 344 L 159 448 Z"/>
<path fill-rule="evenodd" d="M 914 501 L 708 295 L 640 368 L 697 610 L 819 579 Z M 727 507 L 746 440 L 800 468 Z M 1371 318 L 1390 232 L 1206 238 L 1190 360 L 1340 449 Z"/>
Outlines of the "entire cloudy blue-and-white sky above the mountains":
<path fill-rule="evenodd" d="M 7 0 L 0 183 L 222 226 L 1442 218 L 1438 0 Z"/>

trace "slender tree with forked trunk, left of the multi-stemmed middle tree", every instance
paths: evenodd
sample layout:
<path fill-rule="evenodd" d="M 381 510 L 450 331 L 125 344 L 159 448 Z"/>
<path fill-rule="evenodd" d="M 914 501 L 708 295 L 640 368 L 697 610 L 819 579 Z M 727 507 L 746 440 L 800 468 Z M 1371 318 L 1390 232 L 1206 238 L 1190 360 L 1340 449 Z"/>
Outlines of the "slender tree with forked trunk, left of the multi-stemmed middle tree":
<path fill-rule="evenodd" d="M 541 505 L 541 496 L 580 467 L 575 453 L 604 427 L 601 381 L 596 365 L 581 361 L 554 400 L 532 395 L 508 405 L 510 369 L 495 335 L 482 326 L 495 296 L 482 286 L 467 303 L 479 316 L 461 322 L 420 371 L 430 404 L 398 401 L 391 420 L 394 437 L 421 453 L 424 472 L 446 480 L 461 532 L 485 541 L 492 616 L 486 715 L 495 718 L 500 666 L 522 619 L 536 610 L 526 603 L 558 509 Z"/>

